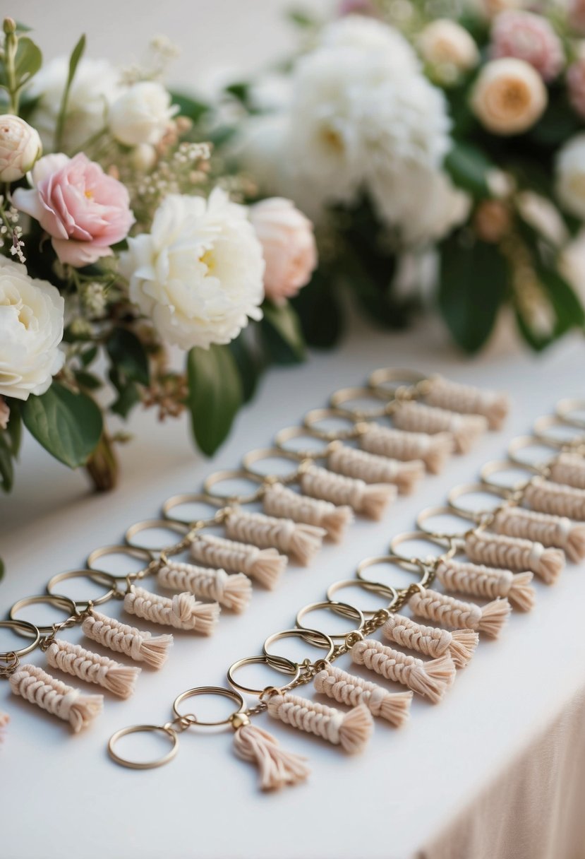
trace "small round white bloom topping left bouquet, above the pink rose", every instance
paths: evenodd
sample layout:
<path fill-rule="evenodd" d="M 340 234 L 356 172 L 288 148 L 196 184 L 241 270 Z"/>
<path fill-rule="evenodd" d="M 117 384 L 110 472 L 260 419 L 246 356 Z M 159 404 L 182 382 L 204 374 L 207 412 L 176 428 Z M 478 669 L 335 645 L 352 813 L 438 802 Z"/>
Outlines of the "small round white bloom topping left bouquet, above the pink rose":
<path fill-rule="evenodd" d="M 112 135 L 126 146 L 160 143 L 178 113 L 171 94 L 156 81 L 140 81 L 119 95 L 110 107 L 108 125 Z"/>

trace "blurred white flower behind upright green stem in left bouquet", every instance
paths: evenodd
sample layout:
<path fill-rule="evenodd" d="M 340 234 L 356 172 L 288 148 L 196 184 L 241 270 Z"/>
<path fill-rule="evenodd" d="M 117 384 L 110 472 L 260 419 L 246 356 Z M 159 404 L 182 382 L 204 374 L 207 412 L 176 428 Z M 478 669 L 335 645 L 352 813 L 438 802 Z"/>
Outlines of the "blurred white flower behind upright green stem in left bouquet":
<path fill-rule="evenodd" d="M 46 64 L 29 90 L 39 97 L 31 123 L 39 131 L 45 151 L 55 144 L 55 128 L 61 108 L 63 88 L 69 73 L 69 60 L 57 57 Z M 105 59 L 82 59 L 69 90 L 67 119 L 63 130 L 63 149 L 72 152 L 106 125 L 108 107 L 120 94 L 118 71 Z"/>

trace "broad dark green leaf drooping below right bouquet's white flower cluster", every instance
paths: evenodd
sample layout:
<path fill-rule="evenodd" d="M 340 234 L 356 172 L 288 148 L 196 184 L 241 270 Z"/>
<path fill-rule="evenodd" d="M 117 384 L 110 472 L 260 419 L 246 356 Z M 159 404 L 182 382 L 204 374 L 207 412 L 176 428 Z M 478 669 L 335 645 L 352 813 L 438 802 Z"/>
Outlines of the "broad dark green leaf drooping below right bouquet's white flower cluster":
<path fill-rule="evenodd" d="M 438 304 L 455 342 L 477 352 L 504 302 L 508 268 L 496 245 L 461 238 L 452 235 L 441 246 Z"/>

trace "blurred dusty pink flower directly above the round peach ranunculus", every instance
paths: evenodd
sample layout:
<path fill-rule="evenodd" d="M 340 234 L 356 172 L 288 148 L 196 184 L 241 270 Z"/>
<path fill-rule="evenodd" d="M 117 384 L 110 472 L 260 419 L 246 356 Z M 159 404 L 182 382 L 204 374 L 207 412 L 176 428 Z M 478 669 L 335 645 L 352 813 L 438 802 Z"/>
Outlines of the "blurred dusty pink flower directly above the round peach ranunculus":
<path fill-rule="evenodd" d="M 509 9 L 492 25 L 492 57 L 523 59 L 544 81 L 552 81 L 564 68 L 564 50 L 551 24 L 541 15 Z"/>

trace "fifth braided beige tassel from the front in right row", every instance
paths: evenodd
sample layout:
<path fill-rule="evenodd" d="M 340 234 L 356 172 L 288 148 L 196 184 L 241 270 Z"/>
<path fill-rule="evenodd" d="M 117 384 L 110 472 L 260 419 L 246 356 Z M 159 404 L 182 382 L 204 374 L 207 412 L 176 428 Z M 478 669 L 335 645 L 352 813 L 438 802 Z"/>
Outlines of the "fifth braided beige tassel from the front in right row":
<path fill-rule="evenodd" d="M 408 605 L 419 618 L 436 620 L 437 624 L 453 626 L 455 630 L 485 632 L 490 638 L 498 638 L 511 611 L 505 599 L 493 600 L 482 607 L 428 589 L 413 594 Z"/>

